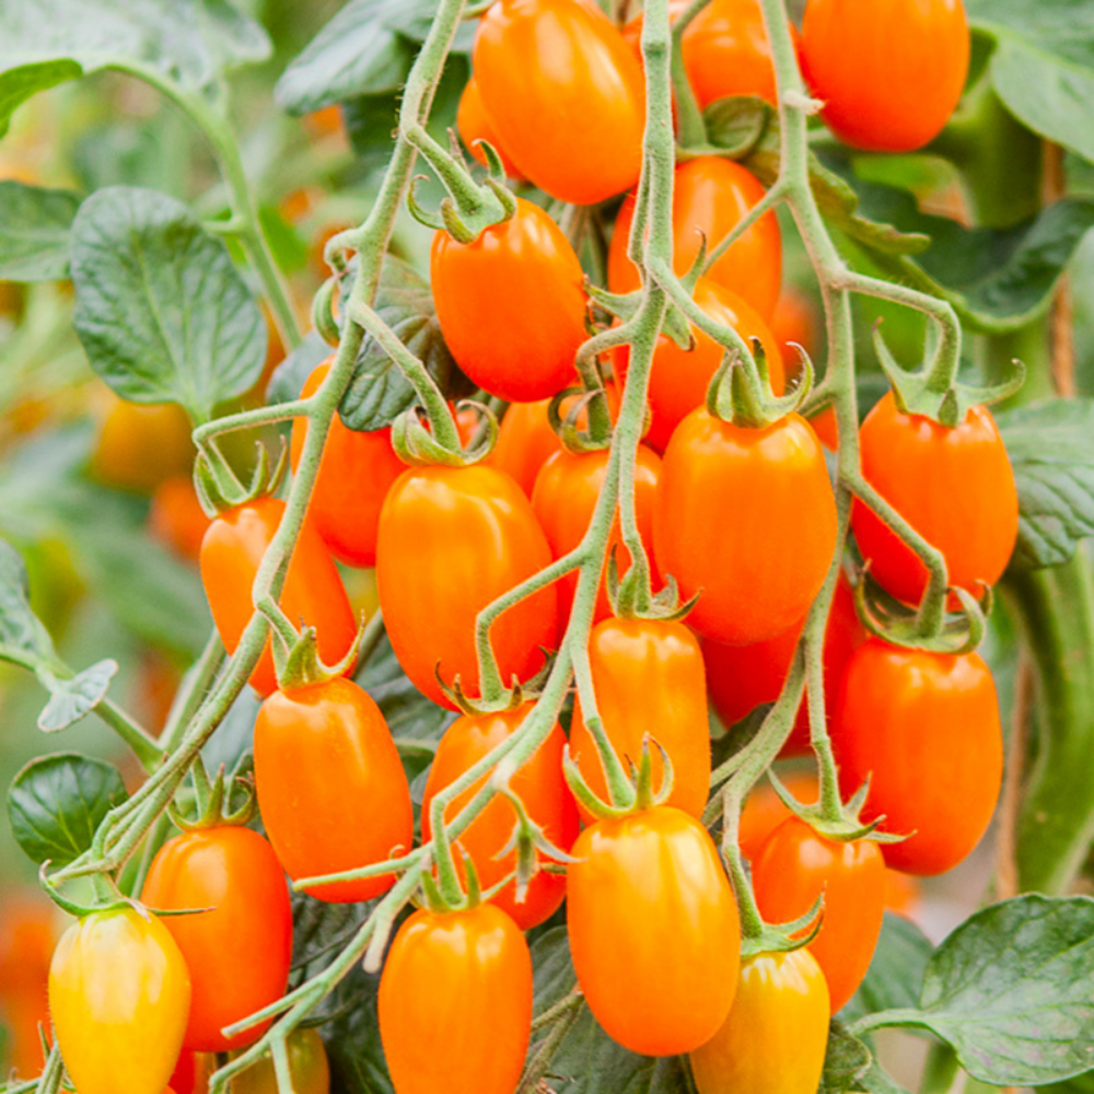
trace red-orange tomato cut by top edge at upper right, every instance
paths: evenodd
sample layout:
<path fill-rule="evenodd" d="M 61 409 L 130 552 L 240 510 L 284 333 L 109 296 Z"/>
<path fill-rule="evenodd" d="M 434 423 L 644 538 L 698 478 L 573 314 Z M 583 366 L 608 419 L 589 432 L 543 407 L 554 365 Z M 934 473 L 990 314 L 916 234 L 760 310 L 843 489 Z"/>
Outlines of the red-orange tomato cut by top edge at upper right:
<path fill-rule="evenodd" d="M 854 63 L 849 65 L 848 58 Z M 808 0 L 802 23 L 806 82 L 840 140 L 912 152 L 950 120 L 968 74 L 962 0 Z"/>

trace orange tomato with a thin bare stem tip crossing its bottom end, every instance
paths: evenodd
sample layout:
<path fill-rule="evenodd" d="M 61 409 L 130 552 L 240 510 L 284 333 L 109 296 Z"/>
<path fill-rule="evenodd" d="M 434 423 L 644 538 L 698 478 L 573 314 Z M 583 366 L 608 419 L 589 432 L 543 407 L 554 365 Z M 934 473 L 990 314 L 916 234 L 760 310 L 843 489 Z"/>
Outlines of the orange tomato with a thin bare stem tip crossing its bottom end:
<path fill-rule="evenodd" d="M 294 881 L 405 854 L 414 841 L 406 772 L 380 708 L 336 678 L 276 691 L 255 724 L 255 785 L 274 850 Z M 307 889 L 317 900 L 369 900 L 394 874 Z"/>

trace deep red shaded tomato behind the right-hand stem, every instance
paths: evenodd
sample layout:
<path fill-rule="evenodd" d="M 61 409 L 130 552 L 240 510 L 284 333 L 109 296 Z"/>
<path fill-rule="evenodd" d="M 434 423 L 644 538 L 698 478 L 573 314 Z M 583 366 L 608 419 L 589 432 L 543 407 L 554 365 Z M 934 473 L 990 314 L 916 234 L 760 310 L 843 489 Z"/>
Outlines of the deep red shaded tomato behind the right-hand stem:
<path fill-rule="evenodd" d="M 711 641 L 702 643 L 710 697 L 718 717 L 726 725 L 740 722 L 760 703 L 775 702 L 779 698 L 804 626 L 803 617 L 789 630 L 755 645 L 724 645 Z M 854 593 L 850 584 L 840 577 L 824 635 L 825 709 L 829 719 L 847 663 L 865 639 L 865 628 L 854 610 Z M 781 755 L 800 756 L 808 750 L 808 703 L 803 696 L 793 732 Z"/>

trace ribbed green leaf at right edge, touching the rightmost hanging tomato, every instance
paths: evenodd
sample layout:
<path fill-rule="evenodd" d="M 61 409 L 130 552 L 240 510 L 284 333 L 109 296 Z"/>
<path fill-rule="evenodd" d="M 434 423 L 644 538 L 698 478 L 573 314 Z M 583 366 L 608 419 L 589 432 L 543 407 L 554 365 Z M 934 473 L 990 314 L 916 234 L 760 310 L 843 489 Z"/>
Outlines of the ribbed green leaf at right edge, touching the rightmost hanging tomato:
<path fill-rule="evenodd" d="M 997 420 L 1019 488 L 1011 566 L 1060 566 L 1094 535 L 1094 400 L 1046 399 Z"/>

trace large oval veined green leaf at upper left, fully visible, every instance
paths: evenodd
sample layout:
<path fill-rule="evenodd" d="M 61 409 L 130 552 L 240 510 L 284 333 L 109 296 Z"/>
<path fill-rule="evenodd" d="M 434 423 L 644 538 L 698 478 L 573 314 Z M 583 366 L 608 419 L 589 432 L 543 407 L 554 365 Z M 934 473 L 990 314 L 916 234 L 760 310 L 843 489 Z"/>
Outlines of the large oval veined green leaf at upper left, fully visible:
<path fill-rule="evenodd" d="M 224 244 L 174 198 L 92 195 L 72 228 L 72 280 L 91 366 L 123 398 L 181 403 L 207 420 L 261 374 L 258 305 Z"/>

